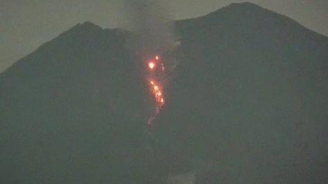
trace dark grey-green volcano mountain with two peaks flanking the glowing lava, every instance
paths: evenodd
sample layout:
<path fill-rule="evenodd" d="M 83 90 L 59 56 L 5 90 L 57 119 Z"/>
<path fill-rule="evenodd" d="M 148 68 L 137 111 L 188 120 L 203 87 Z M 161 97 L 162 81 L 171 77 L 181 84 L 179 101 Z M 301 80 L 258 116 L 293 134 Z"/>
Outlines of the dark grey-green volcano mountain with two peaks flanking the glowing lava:
<path fill-rule="evenodd" d="M 327 183 L 328 38 L 252 3 L 175 28 L 152 127 L 131 32 L 78 24 L 1 73 L 0 183 Z"/>

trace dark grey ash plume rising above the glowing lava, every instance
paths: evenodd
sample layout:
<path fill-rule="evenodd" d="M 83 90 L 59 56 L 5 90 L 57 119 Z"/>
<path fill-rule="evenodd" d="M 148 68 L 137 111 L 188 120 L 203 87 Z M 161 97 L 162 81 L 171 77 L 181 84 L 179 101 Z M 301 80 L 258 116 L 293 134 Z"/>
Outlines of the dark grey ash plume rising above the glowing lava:
<path fill-rule="evenodd" d="M 154 55 L 174 47 L 173 21 L 165 6 L 154 0 L 124 0 L 122 28 L 138 34 L 138 50 Z"/>

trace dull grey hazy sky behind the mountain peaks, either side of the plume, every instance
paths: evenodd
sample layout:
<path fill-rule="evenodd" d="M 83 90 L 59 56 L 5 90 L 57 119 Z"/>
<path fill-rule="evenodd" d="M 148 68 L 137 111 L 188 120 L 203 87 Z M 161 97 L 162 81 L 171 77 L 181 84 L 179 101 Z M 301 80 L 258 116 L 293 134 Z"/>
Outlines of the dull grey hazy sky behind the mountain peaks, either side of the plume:
<path fill-rule="evenodd" d="M 136 0 L 137 1 L 137 0 Z M 158 0 L 160 1 L 160 0 Z M 172 19 L 208 14 L 239 0 L 163 0 Z M 250 0 L 328 35 L 327 0 Z M 0 72 L 76 23 L 116 28 L 122 0 L 0 0 Z"/>

